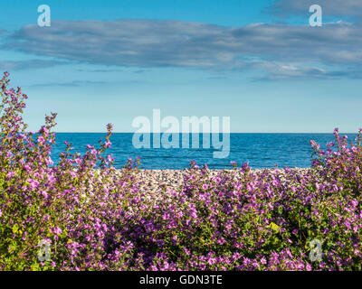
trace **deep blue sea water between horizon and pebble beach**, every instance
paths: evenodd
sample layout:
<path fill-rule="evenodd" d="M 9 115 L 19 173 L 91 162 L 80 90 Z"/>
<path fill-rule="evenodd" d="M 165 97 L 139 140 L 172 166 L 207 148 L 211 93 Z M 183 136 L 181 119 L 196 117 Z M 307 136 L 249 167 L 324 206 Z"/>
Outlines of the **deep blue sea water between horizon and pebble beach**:
<path fill-rule="evenodd" d="M 86 145 L 98 145 L 105 134 L 98 133 L 57 133 L 56 144 L 52 149 L 52 160 L 56 163 L 59 154 L 64 151 L 64 141 L 74 147 L 75 152 L 84 154 Z M 310 140 L 316 141 L 322 148 L 334 140 L 333 134 L 231 134 L 230 154 L 227 158 L 217 159 L 213 152 L 220 151 L 213 148 L 203 148 L 202 135 L 200 135 L 200 148 L 142 148 L 137 149 L 132 144 L 133 134 L 114 134 L 110 137 L 112 143 L 108 154 L 115 157 L 115 167 L 121 168 L 127 163 L 129 157 L 141 157 L 141 169 L 185 169 L 191 160 L 199 165 L 207 164 L 210 169 L 232 168 L 231 161 L 238 166 L 249 162 L 252 168 L 273 168 L 275 165 L 283 168 L 307 168 L 311 165 Z M 354 140 L 357 135 L 348 135 Z M 221 136 L 220 136 L 221 137 Z M 152 139 L 152 138 L 151 138 Z M 181 146 L 180 136 L 180 146 Z M 190 135 L 190 144 L 192 137 Z M 152 142 L 151 142 L 152 145 Z"/>

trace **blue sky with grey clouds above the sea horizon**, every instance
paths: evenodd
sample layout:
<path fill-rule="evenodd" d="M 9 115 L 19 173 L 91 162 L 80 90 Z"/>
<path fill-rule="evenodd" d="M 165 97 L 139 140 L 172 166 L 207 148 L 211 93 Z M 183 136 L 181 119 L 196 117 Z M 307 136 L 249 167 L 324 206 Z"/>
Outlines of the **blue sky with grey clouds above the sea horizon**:
<path fill-rule="evenodd" d="M 362 2 L 13 0 L 0 70 L 29 96 L 31 129 L 132 132 L 138 116 L 231 117 L 232 132 L 362 126 Z M 51 27 L 39 27 L 39 5 Z M 309 7 L 323 9 L 310 27 Z"/>

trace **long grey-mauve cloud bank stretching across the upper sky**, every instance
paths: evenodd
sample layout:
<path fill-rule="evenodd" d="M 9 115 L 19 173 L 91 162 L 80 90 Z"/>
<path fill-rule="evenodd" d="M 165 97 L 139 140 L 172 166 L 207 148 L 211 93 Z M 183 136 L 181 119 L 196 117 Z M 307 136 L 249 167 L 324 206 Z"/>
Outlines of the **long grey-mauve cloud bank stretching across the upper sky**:
<path fill-rule="evenodd" d="M 362 26 L 357 23 L 225 27 L 118 20 L 54 21 L 46 28 L 26 25 L 8 36 L 3 48 L 62 61 L 145 69 L 259 70 L 266 73 L 262 78 L 286 79 L 359 78 L 361 44 Z"/>

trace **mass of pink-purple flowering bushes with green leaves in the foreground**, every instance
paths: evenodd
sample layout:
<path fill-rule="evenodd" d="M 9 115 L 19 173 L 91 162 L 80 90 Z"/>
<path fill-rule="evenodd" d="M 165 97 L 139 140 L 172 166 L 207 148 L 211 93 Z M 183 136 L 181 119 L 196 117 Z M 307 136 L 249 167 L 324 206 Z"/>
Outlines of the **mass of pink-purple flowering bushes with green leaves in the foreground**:
<path fill-rule="evenodd" d="M 178 191 L 151 198 L 99 147 L 53 165 L 55 114 L 35 134 L 27 98 L 1 79 L 0 270 L 361 270 L 362 145 L 335 131 L 312 167 L 254 172 L 195 163 Z M 310 258 L 319 240 L 320 260 Z M 43 258 L 42 242 L 49 244 Z M 42 254 L 41 254 L 42 253 Z"/>

